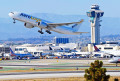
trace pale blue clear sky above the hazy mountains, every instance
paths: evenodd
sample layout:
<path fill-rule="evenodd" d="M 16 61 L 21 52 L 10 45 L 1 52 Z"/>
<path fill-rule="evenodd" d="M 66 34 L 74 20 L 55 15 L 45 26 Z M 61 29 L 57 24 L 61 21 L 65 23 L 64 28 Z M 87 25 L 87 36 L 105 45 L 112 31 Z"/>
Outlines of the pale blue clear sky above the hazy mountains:
<path fill-rule="evenodd" d="M 11 11 L 86 15 L 92 4 L 100 5 L 104 17 L 120 17 L 120 0 L 0 0 L 0 17 Z"/>

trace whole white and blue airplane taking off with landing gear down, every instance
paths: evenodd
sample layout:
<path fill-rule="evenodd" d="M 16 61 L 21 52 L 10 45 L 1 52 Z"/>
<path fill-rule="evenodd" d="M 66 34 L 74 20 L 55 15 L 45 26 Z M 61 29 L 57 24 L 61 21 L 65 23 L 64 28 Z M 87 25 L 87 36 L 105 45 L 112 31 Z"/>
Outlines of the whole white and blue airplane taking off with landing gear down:
<path fill-rule="evenodd" d="M 80 24 L 83 22 L 83 19 L 79 22 L 71 22 L 71 23 L 51 23 L 49 21 L 33 17 L 31 15 L 27 15 L 25 13 L 19 12 L 10 12 L 9 16 L 15 20 L 24 22 L 24 26 L 26 28 L 34 28 L 39 27 L 39 33 L 44 34 L 42 29 L 45 29 L 47 33 L 51 34 L 51 31 L 61 33 L 61 34 L 70 34 L 70 35 L 80 35 L 82 33 L 88 32 L 78 32 Z M 66 25 L 72 25 L 72 27 L 67 27 Z"/>

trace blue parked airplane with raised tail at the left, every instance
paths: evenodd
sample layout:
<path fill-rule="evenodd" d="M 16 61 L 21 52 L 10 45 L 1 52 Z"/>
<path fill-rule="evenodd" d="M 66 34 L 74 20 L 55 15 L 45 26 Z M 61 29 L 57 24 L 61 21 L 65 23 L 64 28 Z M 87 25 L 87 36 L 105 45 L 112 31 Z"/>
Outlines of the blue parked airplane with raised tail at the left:
<path fill-rule="evenodd" d="M 22 58 L 24 58 L 24 57 L 33 57 L 33 55 L 32 54 L 30 54 L 30 53 L 27 53 L 27 54 L 15 54 L 13 51 L 12 51 L 12 49 L 10 48 L 10 56 L 11 57 L 14 57 L 14 58 L 16 58 L 16 59 L 22 59 Z"/>

